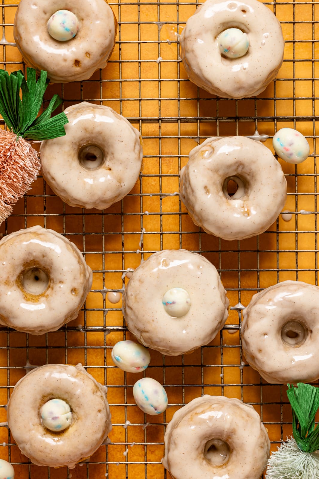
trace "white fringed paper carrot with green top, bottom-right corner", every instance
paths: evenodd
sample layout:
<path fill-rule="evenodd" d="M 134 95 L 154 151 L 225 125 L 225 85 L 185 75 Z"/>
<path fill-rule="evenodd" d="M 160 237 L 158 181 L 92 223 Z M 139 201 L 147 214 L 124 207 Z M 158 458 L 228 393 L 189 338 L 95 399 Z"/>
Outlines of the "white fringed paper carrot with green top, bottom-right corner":
<path fill-rule="evenodd" d="M 270 456 L 267 479 L 319 479 L 319 388 L 298 383 L 287 385 L 292 409 L 293 437 Z"/>

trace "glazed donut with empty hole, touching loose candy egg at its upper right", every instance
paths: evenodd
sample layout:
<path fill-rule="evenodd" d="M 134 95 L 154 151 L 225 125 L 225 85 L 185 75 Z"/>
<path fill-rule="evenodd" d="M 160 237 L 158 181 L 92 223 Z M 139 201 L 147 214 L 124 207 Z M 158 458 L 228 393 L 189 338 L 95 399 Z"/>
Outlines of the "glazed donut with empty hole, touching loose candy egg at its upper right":
<path fill-rule="evenodd" d="M 229 182 L 237 184 L 230 196 Z M 287 183 L 271 151 L 246 137 L 208 138 L 180 171 L 179 196 L 194 223 L 222 239 L 269 228 L 286 201 Z"/>

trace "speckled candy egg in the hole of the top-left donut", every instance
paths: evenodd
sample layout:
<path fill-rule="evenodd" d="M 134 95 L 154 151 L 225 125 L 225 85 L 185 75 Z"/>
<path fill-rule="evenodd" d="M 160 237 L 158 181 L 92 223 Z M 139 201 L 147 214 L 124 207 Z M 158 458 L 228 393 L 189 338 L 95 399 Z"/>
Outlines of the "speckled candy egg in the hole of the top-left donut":
<path fill-rule="evenodd" d="M 69 10 L 58 10 L 48 20 L 47 28 L 49 34 L 59 42 L 67 42 L 74 38 L 78 30 L 78 19 Z"/>

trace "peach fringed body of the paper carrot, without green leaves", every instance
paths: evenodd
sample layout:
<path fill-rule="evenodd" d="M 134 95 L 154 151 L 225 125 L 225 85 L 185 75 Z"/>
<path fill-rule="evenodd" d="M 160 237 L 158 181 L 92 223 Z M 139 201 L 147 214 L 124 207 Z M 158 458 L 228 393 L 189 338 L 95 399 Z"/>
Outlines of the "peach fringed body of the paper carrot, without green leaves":
<path fill-rule="evenodd" d="M 39 153 L 22 137 L 0 129 L 0 224 L 40 171 Z"/>

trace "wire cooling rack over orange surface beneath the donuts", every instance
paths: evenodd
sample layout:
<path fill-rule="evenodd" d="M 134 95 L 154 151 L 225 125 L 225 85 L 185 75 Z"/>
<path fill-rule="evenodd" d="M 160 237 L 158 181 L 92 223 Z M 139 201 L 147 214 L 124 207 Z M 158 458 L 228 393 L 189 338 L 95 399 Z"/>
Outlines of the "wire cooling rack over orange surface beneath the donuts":
<path fill-rule="evenodd" d="M 319 4 L 275 1 L 266 5 L 282 23 L 285 60 L 278 79 L 255 99 L 219 100 L 187 80 L 179 57 L 179 34 L 198 6 L 194 1 L 110 3 L 118 21 L 117 43 L 106 69 L 88 81 L 52 85 L 63 108 L 80 100 L 108 105 L 126 116 L 143 136 L 144 166 L 132 192 L 108 210 L 82 210 L 62 203 L 43 178 L 1 225 L 3 234 L 41 225 L 71 239 L 93 269 L 93 286 L 79 317 L 40 337 L 0 330 L 0 456 L 16 477 L 110 479 L 170 478 L 160 460 L 165 425 L 183 404 L 203 393 L 237 397 L 260 413 L 272 450 L 291 433 L 285 388 L 269 385 L 245 365 L 239 324 L 242 305 L 264 287 L 286 279 L 318 283 L 316 139 L 319 106 Z M 24 68 L 12 45 L 17 4 L 1 0 L 1 66 Z M 285 210 L 259 237 L 223 241 L 201 232 L 178 197 L 178 173 L 190 149 L 210 136 L 272 137 L 278 128 L 297 128 L 310 144 L 310 157 L 282 163 L 288 183 Z M 271 138 L 265 142 L 272 148 Z M 262 161 L 262 159 L 261 159 Z M 160 249 L 185 248 L 206 256 L 220 272 L 231 303 L 224 329 L 208 346 L 181 357 L 151 352 L 146 371 L 165 385 L 169 408 L 146 416 L 134 404 L 132 385 L 141 375 L 123 373 L 110 358 L 115 342 L 130 338 L 121 303 L 107 291 L 121 291 L 125 272 Z M 66 468 L 36 467 L 22 456 L 6 427 L 5 405 L 17 380 L 32 365 L 81 362 L 108 387 L 113 430 L 88 463 Z"/>

